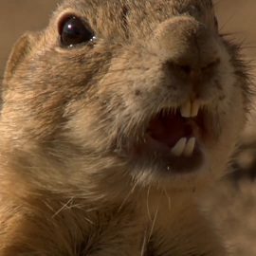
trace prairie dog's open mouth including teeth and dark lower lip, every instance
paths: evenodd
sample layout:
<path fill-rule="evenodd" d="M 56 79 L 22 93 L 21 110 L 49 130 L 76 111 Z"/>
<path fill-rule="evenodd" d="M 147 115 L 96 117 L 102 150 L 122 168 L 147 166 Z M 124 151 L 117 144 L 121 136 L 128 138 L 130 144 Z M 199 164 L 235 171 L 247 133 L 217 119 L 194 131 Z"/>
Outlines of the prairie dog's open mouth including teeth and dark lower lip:
<path fill-rule="evenodd" d="M 175 173 L 197 170 L 204 162 L 203 148 L 210 137 L 209 118 L 198 101 L 160 110 L 148 122 L 138 155 L 147 155 L 148 161 Z"/>

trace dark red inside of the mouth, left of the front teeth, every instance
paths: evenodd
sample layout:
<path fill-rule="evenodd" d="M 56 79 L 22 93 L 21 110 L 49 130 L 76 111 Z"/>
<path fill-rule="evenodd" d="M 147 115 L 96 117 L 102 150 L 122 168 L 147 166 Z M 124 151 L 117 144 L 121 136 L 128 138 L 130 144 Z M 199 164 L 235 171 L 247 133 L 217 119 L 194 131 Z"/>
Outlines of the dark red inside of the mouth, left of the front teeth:
<path fill-rule="evenodd" d="M 192 130 L 180 114 L 160 113 L 151 119 L 148 133 L 155 140 L 173 148 L 181 137 L 190 137 Z"/>

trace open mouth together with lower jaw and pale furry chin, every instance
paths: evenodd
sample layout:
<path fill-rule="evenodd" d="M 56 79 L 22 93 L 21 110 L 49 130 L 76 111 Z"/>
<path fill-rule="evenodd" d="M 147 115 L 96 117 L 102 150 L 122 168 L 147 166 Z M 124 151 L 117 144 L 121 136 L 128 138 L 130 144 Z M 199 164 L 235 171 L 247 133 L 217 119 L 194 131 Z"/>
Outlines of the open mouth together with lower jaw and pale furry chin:
<path fill-rule="evenodd" d="M 196 102 L 163 108 L 137 129 L 125 156 L 128 174 L 140 187 L 199 190 L 226 174 L 240 127 Z M 238 125 L 239 126 L 239 125 Z"/>

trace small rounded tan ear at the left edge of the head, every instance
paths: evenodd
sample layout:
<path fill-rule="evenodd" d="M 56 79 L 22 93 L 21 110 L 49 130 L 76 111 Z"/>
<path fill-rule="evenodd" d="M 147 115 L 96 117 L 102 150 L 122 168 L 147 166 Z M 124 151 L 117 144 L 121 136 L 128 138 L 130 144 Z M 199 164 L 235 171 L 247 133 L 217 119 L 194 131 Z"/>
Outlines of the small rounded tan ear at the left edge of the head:
<path fill-rule="evenodd" d="M 11 53 L 9 55 L 9 60 L 6 65 L 6 70 L 4 74 L 4 82 L 8 82 L 9 78 L 12 77 L 17 67 L 23 63 L 26 59 L 28 53 L 31 50 L 31 42 L 34 39 L 34 34 L 27 32 L 22 35 L 17 43 L 13 46 Z"/>

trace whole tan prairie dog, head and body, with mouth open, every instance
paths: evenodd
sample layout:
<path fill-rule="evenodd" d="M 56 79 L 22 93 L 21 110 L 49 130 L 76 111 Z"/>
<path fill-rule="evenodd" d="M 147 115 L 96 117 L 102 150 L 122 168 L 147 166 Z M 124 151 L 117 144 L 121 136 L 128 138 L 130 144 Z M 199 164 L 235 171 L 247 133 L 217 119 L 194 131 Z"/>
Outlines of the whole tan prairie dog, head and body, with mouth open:
<path fill-rule="evenodd" d="M 207 0 L 67 0 L 14 46 L 0 256 L 221 256 L 197 206 L 249 107 Z"/>

